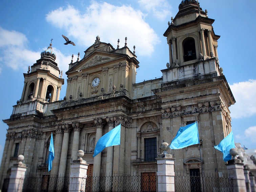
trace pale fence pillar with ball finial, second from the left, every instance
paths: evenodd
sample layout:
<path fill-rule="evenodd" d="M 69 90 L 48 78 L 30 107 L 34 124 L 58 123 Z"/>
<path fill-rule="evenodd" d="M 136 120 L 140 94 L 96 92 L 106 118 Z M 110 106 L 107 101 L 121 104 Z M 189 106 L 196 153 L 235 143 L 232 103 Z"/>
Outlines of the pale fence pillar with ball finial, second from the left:
<path fill-rule="evenodd" d="M 79 157 L 77 160 L 72 161 L 70 164 L 70 182 L 69 182 L 69 192 L 85 191 L 86 183 L 85 178 L 87 176 L 88 164 L 83 160 L 84 151 L 79 150 L 77 152 Z"/>

